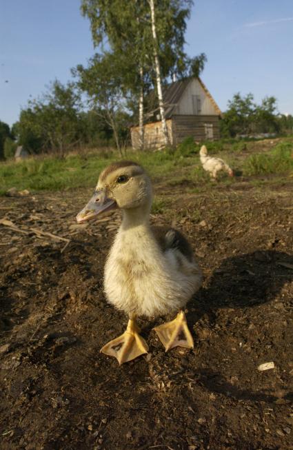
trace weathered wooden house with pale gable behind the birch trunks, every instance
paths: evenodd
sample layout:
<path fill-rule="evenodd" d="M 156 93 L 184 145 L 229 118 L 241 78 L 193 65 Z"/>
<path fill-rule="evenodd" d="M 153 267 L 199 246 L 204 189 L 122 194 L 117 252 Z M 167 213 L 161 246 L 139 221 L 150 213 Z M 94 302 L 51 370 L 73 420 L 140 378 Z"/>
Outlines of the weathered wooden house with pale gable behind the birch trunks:
<path fill-rule="evenodd" d="M 219 139 L 221 110 L 200 78 L 175 81 L 163 90 L 165 119 L 171 145 L 188 136 L 194 141 Z M 159 108 L 148 114 L 144 125 L 145 148 L 158 148 L 164 143 Z M 139 148 L 139 127 L 130 128 L 132 147 Z"/>

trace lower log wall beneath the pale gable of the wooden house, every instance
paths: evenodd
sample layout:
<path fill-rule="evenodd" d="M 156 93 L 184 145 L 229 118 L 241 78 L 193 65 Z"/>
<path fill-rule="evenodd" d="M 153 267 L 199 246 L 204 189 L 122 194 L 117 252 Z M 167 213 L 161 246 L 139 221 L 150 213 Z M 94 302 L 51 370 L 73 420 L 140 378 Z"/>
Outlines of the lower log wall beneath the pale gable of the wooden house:
<path fill-rule="evenodd" d="M 177 145 L 188 136 L 193 136 L 195 141 L 203 141 L 205 136 L 205 123 L 213 125 L 214 138 L 220 139 L 219 116 L 172 116 L 173 143 Z"/>

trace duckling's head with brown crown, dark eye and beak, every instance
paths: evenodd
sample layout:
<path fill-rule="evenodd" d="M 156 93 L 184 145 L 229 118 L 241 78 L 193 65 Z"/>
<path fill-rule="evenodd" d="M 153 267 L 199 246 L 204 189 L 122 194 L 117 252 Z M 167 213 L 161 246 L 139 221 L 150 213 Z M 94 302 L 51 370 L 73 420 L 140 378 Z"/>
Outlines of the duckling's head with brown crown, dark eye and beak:
<path fill-rule="evenodd" d="M 149 212 L 151 205 L 152 185 L 143 167 L 132 161 L 119 161 L 101 172 L 94 195 L 77 214 L 77 222 L 115 208 Z"/>

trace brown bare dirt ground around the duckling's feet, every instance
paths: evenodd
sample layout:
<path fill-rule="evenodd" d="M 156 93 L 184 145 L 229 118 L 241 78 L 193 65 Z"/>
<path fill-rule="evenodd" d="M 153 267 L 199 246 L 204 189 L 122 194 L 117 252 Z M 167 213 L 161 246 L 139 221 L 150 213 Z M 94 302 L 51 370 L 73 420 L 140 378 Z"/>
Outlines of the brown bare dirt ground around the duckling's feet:
<path fill-rule="evenodd" d="M 195 347 L 165 354 L 142 318 L 150 354 L 121 367 L 99 353 L 126 324 L 103 295 L 119 214 L 78 226 L 81 190 L 0 198 L 2 450 L 293 449 L 293 180 L 157 184 L 152 221 L 203 269 Z"/>

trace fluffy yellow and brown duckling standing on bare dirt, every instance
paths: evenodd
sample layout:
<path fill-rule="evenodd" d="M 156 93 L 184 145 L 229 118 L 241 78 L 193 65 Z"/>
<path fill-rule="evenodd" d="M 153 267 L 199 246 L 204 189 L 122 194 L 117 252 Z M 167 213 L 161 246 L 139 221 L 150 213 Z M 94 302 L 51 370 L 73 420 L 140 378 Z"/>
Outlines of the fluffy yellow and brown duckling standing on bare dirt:
<path fill-rule="evenodd" d="M 173 228 L 152 227 L 152 184 L 141 165 L 119 161 L 105 167 L 94 195 L 77 214 L 77 222 L 121 209 L 122 222 L 105 263 L 104 292 L 109 303 L 128 314 L 125 332 L 101 349 L 119 365 L 148 353 L 139 335 L 137 316 L 156 317 L 178 312 L 176 318 L 154 330 L 168 351 L 193 348 L 182 310 L 201 286 L 201 270 L 190 243 Z"/>

